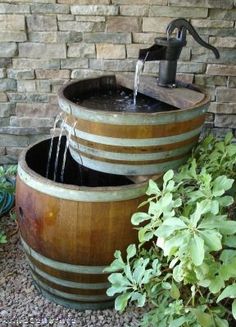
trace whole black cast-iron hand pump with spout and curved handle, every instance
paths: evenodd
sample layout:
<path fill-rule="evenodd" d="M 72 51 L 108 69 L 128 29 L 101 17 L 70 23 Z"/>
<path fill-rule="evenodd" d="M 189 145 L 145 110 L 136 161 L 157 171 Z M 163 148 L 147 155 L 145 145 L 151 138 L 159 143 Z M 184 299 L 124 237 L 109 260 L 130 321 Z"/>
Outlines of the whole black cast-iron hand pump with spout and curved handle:
<path fill-rule="evenodd" d="M 177 37 L 170 37 L 177 29 Z M 182 48 L 186 45 L 187 31 L 201 46 L 213 51 L 215 57 L 220 57 L 219 51 L 212 45 L 206 43 L 194 29 L 194 27 L 184 18 L 178 18 L 169 23 L 166 29 L 166 38 L 156 38 L 155 44 L 148 49 L 139 51 L 139 59 L 143 61 L 160 60 L 159 65 L 159 85 L 164 87 L 176 86 L 177 60 Z"/>

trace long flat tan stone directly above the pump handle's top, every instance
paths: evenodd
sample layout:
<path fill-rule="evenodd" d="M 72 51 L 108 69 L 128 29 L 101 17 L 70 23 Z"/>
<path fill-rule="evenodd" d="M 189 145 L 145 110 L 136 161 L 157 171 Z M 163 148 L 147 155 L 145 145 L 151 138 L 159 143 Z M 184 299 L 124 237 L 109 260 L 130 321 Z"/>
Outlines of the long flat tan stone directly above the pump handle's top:
<path fill-rule="evenodd" d="M 149 16 L 206 18 L 208 16 L 208 9 L 194 8 L 193 10 L 193 8 L 187 7 L 151 6 Z"/>

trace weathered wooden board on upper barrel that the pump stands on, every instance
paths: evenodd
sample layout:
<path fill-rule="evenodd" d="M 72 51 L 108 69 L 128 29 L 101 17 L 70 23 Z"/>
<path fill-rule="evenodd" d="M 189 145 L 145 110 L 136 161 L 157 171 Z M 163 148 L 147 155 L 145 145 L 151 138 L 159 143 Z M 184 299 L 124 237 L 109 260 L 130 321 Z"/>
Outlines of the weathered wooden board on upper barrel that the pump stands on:
<path fill-rule="evenodd" d="M 117 84 L 133 90 L 134 74 L 116 74 Z M 148 95 L 159 101 L 173 105 L 179 109 L 194 107 L 201 102 L 205 95 L 183 86 L 177 88 L 165 88 L 157 84 L 157 79 L 153 76 L 142 75 L 139 84 L 139 93 Z"/>

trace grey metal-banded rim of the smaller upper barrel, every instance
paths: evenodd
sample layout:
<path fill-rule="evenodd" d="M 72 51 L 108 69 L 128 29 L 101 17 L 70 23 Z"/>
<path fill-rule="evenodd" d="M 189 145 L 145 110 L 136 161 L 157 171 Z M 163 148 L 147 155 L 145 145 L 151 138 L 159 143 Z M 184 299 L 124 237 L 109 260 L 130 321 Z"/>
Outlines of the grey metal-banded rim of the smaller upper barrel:
<path fill-rule="evenodd" d="M 96 111 L 98 113 L 101 113 L 102 115 L 104 116 L 113 116 L 114 114 L 116 116 L 126 116 L 126 117 L 132 117 L 132 116 L 136 116 L 136 117 L 145 117 L 147 115 L 146 112 L 135 112 L 135 113 L 132 113 L 132 112 L 126 112 L 126 111 L 106 111 L 106 110 L 100 110 L 100 109 L 95 109 L 95 108 L 86 108 L 86 107 L 83 107 L 81 105 L 78 105 L 76 104 L 75 102 L 69 100 L 66 96 L 65 96 L 65 90 L 71 86 L 71 85 L 74 85 L 74 84 L 77 84 L 77 83 L 80 83 L 82 81 L 88 81 L 88 80 L 95 80 L 95 79 L 101 79 L 101 78 L 104 78 L 104 77 L 115 77 L 116 78 L 116 75 L 115 74 L 104 74 L 104 75 L 101 75 L 101 76 L 98 76 L 98 77 L 91 77 L 91 78 L 81 78 L 81 79 L 78 79 L 76 81 L 69 81 L 67 82 L 66 84 L 63 84 L 62 87 L 59 89 L 58 91 L 58 100 L 59 102 L 62 100 L 62 101 L 65 101 L 67 103 L 69 103 L 69 105 L 73 105 L 75 106 L 76 108 L 80 109 L 80 110 L 83 110 L 84 112 L 86 112 L 87 114 L 91 114 L 92 112 Z M 151 77 L 151 76 L 150 76 Z M 184 83 L 184 82 L 181 82 L 182 84 L 186 85 L 186 87 L 192 87 L 193 89 L 197 90 L 197 91 L 200 91 L 201 93 L 203 93 L 205 95 L 204 99 L 202 101 L 200 101 L 199 103 L 196 103 L 196 105 L 192 106 L 192 107 L 188 107 L 188 108 L 183 108 L 183 109 L 174 109 L 174 110 L 168 110 L 167 112 L 151 112 L 151 113 L 148 113 L 148 116 L 149 117 L 159 117 L 159 116 L 165 116 L 167 114 L 171 114 L 171 113 L 175 113 L 175 114 L 180 114 L 182 112 L 186 112 L 188 110 L 197 110 L 199 108 L 201 108 L 202 106 L 206 105 L 207 103 L 210 102 L 210 95 L 208 95 L 206 93 L 206 91 L 201 88 L 201 87 L 198 87 L 196 86 L 195 84 L 192 84 L 192 83 Z"/>

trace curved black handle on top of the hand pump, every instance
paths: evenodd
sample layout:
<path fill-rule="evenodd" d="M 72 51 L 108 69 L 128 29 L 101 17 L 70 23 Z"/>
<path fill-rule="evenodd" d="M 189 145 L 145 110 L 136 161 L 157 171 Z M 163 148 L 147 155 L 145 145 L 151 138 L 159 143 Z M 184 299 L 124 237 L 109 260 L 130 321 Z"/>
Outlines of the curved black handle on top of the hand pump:
<path fill-rule="evenodd" d="M 201 46 L 210 49 L 213 51 L 215 57 L 218 59 L 220 58 L 219 51 L 213 47 L 211 44 L 205 42 L 197 33 L 195 28 L 184 18 L 177 18 L 172 20 L 166 28 L 166 33 L 170 36 L 171 33 L 178 29 L 177 38 L 183 42 L 186 41 L 186 31 L 188 30 L 189 33 L 192 35 L 195 41 L 197 41 Z"/>

